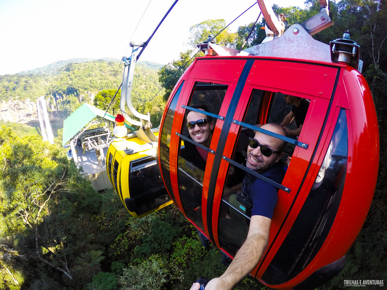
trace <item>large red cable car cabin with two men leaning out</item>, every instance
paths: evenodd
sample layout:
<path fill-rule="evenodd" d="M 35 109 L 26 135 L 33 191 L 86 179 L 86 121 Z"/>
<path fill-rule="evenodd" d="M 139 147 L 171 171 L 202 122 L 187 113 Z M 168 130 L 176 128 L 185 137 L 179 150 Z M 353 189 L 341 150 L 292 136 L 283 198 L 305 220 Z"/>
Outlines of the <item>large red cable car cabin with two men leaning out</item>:
<path fill-rule="evenodd" d="M 329 46 L 310 34 L 295 24 L 242 55 L 200 44 L 206 56 L 176 84 L 159 130 L 158 164 L 172 200 L 233 258 L 247 237 L 251 206 L 232 190 L 248 172 L 238 140 L 254 131 L 270 134 L 255 125 L 281 123 L 291 110 L 284 95 L 310 102 L 299 137 L 281 138 L 287 142 L 283 161 L 291 162 L 281 184 L 268 181 L 278 188 L 278 202 L 269 244 L 250 273 L 279 289 L 313 289 L 339 273 L 377 179 L 377 117 L 357 70 L 356 43 L 344 34 Z M 351 44 L 353 50 L 346 49 Z M 184 146 L 198 146 L 185 125 L 186 111 L 198 111 L 198 104 L 216 121 L 209 148 L 202 148 L 209 152 L 205 168 L 181 154 Z"/>

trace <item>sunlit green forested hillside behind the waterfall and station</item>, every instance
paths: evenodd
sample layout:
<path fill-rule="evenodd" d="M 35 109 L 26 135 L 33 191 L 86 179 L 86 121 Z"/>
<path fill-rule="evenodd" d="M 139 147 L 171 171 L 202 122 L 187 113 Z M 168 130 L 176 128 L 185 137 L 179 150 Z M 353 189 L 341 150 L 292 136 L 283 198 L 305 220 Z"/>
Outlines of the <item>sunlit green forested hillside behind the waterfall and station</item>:
<path fill-rule="evenodd" d="M 64 119 L 84 102 L 93 104 L 94 96 L 99 91 L 116 90 L 119 87 L 122 82 L 123 63 L 105 60 L 82 61 L 84 59 L 58 61 L 29 72 L 2 75 L 0 101 L 29 99 L 35 102 L 38 97 L 45 96 L 49 112 Z M 137 109 L 142 110 L 144 104 L 161 89 L 157 74 L 160 67 L 161 65 L 149 61 L 139 61 L 137 64 L 132 91 L 133 104 Z M 120 95 L 116 99 L 119 100 Z M 157 98 L 154 104 L 156 101 Z M 160 106 L 163 107 L 163 104 Z M 156 107 L 160 106 L 156 104 Z M 152 110 L 152 107 L 147 110 L 154 113 L 153 121 L 158 126 L 160 110 Z"/>

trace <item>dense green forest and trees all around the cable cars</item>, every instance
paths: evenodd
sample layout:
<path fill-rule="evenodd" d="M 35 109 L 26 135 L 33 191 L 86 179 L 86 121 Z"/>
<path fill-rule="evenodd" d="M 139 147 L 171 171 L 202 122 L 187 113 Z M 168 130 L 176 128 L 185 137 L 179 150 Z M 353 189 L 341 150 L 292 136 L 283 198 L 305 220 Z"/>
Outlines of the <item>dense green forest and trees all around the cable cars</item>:
<path fill-rule="evenodd" d="M 318 12 L 318 1 L 307 2 L 306 9 L 274 10 L 286 15 L 289 27 Z M 351 39 L 360 44 L 363 75 L 372 90 L 380 130 L 378 183 L 368 218 L 346 256 L 345 268 L 321 287 L 351 289 L 344 287 L 344 279 L 387 281 L 387 2 L 330 2 L 330 17 L 334 26 L 314 37 L 329 43 L 349 29 Z M 253 30 L 245 47 L 262 41 L 263 24 Z M 192 50 L 164 65 L 158 75 L 157 66 L 139 63 L 134 82 L 139 111 L 150 111 L 157 123 L 171 89 L 196 53 L 195 44 L 226 25 L 222 19 L 193 25 L 187 36 Z M 236 32 L 225 29 L 216 43 L 239 48 L 252 26 L 240 26 Z M 51 110 L 67 116 L 82 102 L 91 102 L 92 94 L 93 104 L 106 109 L 121 73 L 119 62 L 101 60 L 0 76 L 0 100 L 44 95 Z M 147 104 L 161 85 L 165 91 Z M 117 106 L 115 102 L 111 113 Z M 221 253 L 212 245 L 202 247 L 194 227 L 174 206 L 133 218 L 114 191 L 94 191 L 63 148 L 43 142 L 25 127 L 5 125 L 0 128 L 0 290 L 180 290 L 189 289 L 199 276 L 212 278 L 226 269 Z M 235 289 L 260 288 L 265 289 L 245 278 Z"/>

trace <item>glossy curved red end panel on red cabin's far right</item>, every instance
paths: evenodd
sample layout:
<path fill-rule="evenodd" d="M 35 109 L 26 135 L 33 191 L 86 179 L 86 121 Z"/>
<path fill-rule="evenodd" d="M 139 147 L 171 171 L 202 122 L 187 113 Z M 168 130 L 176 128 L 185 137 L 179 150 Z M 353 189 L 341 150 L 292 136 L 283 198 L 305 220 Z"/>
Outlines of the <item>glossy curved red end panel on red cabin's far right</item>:
<path fill-rule="evenodd" d="M 334 226 L 319 254 L 317 267 L 341 258 L 359 234 L 371 206 L 379 163 L 379 135 L 373 99 L 365 78 L 348 67 L 341 95 L 348 96 L 348 167 Z M 351 225 L 351 227 L 348 227 Z M 329 255 L 327 255 L 329 253 Z"/>

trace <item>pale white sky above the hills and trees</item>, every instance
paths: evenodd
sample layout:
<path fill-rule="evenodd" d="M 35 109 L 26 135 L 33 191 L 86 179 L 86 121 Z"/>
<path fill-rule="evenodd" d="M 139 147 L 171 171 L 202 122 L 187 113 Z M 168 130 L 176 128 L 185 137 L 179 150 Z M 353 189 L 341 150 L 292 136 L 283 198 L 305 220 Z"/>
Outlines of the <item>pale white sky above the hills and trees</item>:
<path fill-rule="evenodd" d="M 146 41 L 174 0 L 0 0 L 0 75 L 43 67 L 70 58 L 128 56 L 129 41 Z M 236 5 L 238 3 L 238 5 Z M 168 63 L 188 49 L 189 27 L 206 19 L 228 24 L 254 0 L 179 0 L 139 60 Z M 281 7 L 305 7 L 304 0 L 274 0 Z M 257 19 L 254 5 L 230 31 Z"/>

